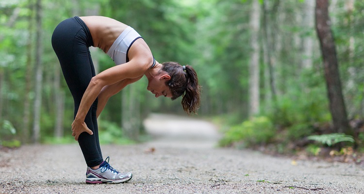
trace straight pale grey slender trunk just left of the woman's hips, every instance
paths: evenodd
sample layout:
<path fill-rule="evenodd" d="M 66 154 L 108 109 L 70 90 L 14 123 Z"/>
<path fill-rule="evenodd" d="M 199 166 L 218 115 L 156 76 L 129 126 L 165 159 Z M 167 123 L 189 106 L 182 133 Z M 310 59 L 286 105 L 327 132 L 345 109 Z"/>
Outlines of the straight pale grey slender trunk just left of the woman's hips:
<path fill-rule="evenodd" d="M 35 38 L 35 98 L 34 98 L 34 120 L 33 120 L 33 142 L 40 140 L 40 113 L 42 106 L 42 5 L 41 0 L 36 0 L 36 38 Z"/>

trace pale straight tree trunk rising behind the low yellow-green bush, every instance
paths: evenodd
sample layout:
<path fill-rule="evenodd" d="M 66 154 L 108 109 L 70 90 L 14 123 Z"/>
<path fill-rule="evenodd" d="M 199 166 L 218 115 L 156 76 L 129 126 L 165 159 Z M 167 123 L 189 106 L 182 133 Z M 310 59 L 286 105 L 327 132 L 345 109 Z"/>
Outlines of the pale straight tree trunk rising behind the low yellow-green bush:
<path fill-rule="evenodd" d="M 250 58 L 250 73 L 249 73 L 249 115 L 259 113 L 259 29 L 260 29 L 260 6 L 259 2 L 253 0 L 253 5 L 250 13 L 250 45 L 252 48 Z"/>

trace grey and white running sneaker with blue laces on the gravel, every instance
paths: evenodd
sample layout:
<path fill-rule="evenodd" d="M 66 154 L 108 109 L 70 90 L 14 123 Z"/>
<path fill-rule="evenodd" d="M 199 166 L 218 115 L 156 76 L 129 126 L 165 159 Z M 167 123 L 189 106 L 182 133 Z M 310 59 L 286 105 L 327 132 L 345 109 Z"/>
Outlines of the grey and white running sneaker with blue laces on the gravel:
<path fill-rule="evenodd" d="M 122 183 L 132 179 L 132 173 L 120 173 L 116 171 L 109 164 L 109 157 L 101 163 L 100 167 L 93 170 L 87 167 L 86 183 L 87 184 L 100 184 L 100 183 Z"/>

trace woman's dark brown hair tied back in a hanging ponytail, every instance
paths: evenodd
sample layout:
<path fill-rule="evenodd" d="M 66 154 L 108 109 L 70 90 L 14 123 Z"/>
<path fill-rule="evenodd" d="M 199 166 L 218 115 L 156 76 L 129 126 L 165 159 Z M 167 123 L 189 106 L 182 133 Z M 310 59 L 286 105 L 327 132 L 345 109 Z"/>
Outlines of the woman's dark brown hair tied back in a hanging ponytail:
<path fill-rule="evenodd" d="M 196 71 L 190 65 L 181 66 L 177 62 L 165 62 L 162 70 L 167 72 L 171 79 L 166 83 L 172 93 L 172 100 L 182 96 L 183 110 L 190 115 L 199 109 L 200 86 Z"/>

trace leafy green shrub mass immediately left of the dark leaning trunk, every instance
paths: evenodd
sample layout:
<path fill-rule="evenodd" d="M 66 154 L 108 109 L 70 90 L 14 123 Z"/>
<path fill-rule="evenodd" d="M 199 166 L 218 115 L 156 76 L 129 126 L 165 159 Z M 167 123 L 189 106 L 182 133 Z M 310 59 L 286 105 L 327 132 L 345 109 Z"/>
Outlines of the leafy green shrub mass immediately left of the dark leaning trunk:
<path fill-rule="evenodd" d="M 286 132 L 287 140 L 307 137 L 318 123 L 331 122 L 322 79 L 315 69 L 306 69 L 301 77 L 289 81 L 289 89 L 277 99 L 274 108 L 265 111 L 274 125 Z M 309 89 L 302 91 L 303 82 Z"/>

